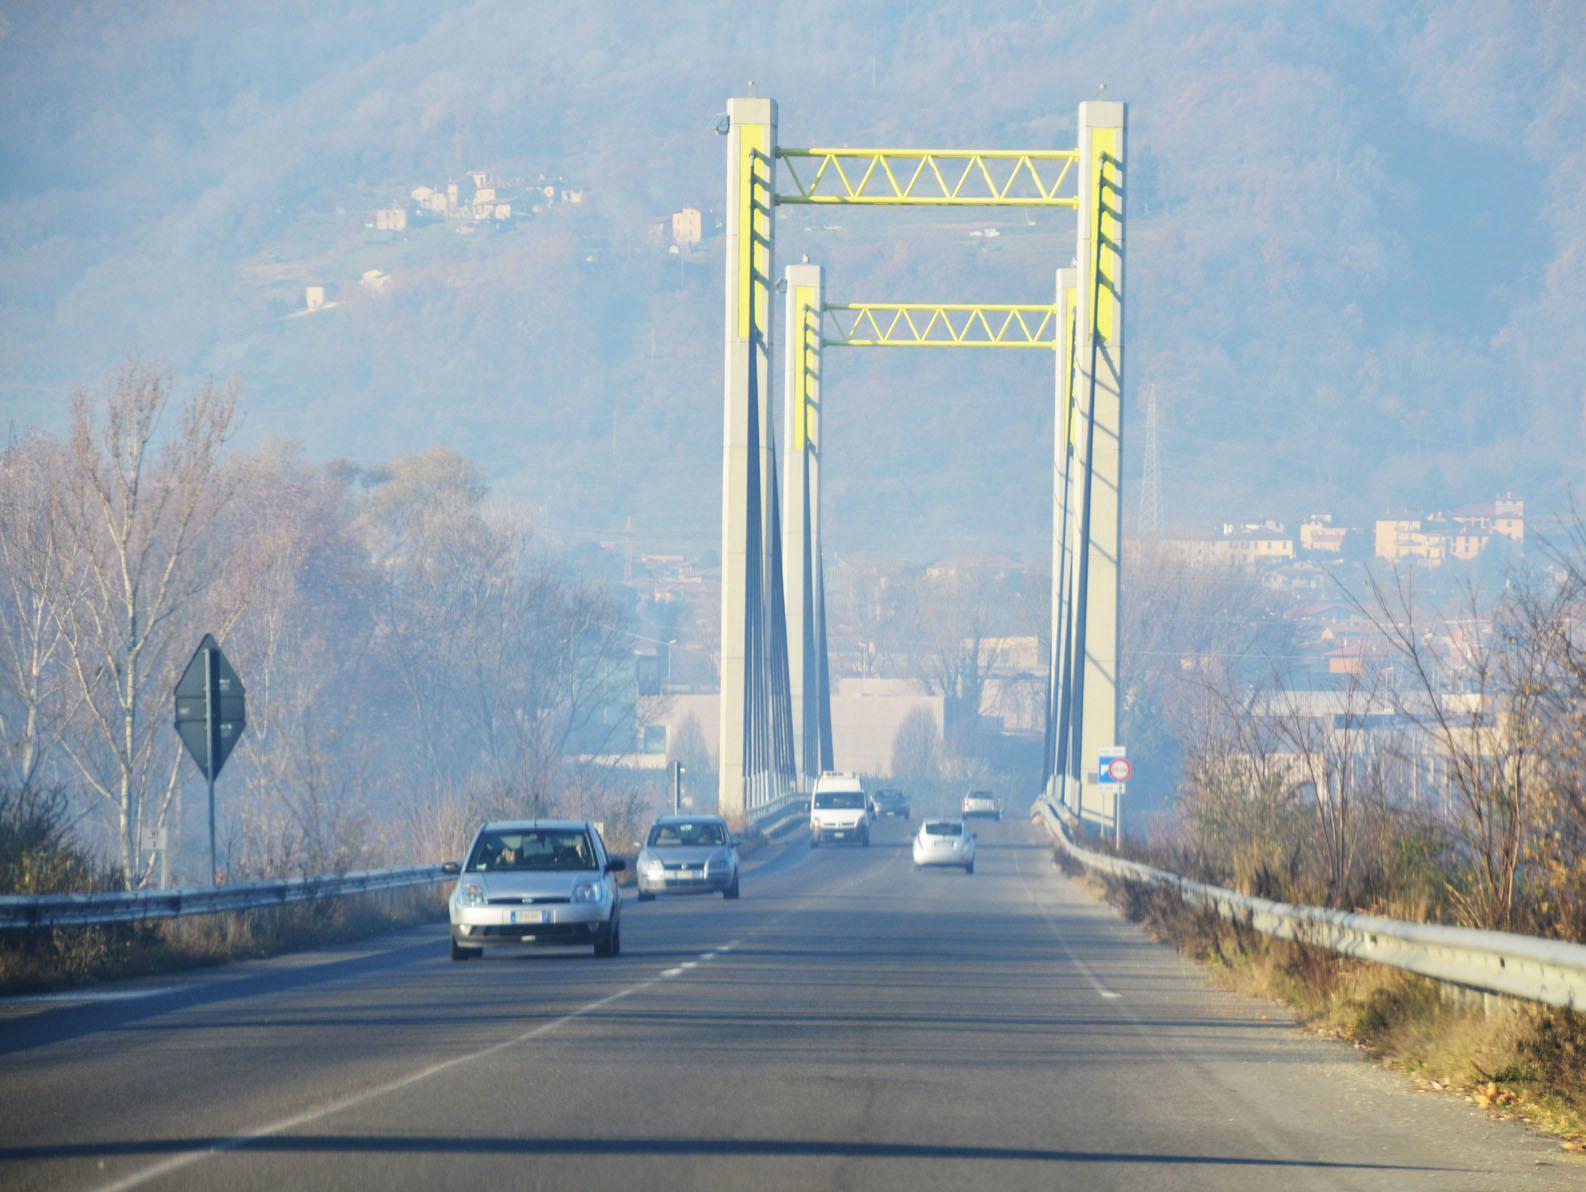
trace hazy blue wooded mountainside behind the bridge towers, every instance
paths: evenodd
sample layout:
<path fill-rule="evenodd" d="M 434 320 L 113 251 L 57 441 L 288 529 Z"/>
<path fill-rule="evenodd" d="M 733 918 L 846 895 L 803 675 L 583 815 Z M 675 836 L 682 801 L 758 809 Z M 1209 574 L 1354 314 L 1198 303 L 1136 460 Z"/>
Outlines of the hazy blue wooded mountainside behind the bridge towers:
<path fill-rule="evenodd" d="M 776 97 L 787 144 L 1026 147 L 1072 144 L 1105 84 L 1131 103 L 1126 476 L 1155 384 L 1169 520 L 1504 488 L 1557 506 L 1580 474 L 1575 0 L 10 3 L 3 22 L 10 423 L 62 430 L 65 393 L 135 349 L 241 380 L 251 439 L 360 461 L 444 444 L 555 536 L 631 517 L 641 542 L 709 548 L 718 241 L 679 263 L 646 225 L 722 206 L 726 97 Z M 585 201 L 498 235 L 365 228 L 466 170 Z M 1071 228 L 783 209 L 779 263 L 810 254 L 836 298 L 1042 300 Z M 311 284 L 335 306 L 285 317 Z M 1039 555 L 1050 360 L 829 368 L 839 552 Z"/>

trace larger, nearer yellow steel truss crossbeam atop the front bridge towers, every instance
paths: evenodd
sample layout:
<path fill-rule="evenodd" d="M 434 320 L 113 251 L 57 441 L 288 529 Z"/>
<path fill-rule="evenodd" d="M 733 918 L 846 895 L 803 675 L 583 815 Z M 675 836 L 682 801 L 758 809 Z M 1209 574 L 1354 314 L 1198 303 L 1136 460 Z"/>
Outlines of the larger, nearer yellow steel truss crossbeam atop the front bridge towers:
<path fill-rule="evenodd" d="M 1077 208 L 1063 193 L 1078 149 L 777 149 L 793 181 L 777 203 Z"/>

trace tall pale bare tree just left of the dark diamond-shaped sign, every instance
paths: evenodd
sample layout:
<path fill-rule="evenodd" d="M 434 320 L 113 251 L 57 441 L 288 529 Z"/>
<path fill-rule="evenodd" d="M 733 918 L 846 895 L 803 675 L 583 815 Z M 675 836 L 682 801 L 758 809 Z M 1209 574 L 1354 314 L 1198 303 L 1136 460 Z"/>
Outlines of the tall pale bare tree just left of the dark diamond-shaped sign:
<path fill-rule="evenodd" d="M 205 534 L 235 487 L 220 464 L 235 390 L 198 390 L 162 437 L 171 404 L 170 379 L 136 361 L 98 398 L 75 393 L 71 472 L 51 510 L 84 577 L 57 607 L 78 707 L 63 748 L 114 815 L 128 886 L 147 877 L 140 827 L 176 791 L 179 759 L 155 705 L 170 696 L 174 636 L 190 631 L 219 566 Z"/>

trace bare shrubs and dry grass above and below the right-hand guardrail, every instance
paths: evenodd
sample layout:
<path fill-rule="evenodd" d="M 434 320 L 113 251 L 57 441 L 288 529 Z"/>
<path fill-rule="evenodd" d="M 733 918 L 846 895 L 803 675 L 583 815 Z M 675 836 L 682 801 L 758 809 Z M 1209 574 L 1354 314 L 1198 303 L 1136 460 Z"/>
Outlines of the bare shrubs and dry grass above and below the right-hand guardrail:
<path fill-rule="evenodd" d="M 1223 607 L 1248 591 L 1216 579 L 1232 593 Z M 1128 856 L 1281 902 L 1586 943 L 1580 526 L 1535 545 L 1529 569 L 1491 596 L 1472 585 L 1426 599 L 1415 571 L 1343 591 L 1370 628 L 1345 674 L 1286 670 L 1299 651 L 1259 617 L 1226 618 L 1232 628 L 1188 645 L 1153 639 L 1164 631 L 1145 621 L 1177 615 L 1163 617 L 1163 601 L 1193 606 L 1191 585 L 1161 586 L 1155 604 L 1137 598 L 1134 644 L 1170 666 L 1131 697 L 1177 751 L 1178 786 L 1126 839 Z M 1129 883 L 1109 881 L 1107 897 L 1229 986 L 1426 1087 L 1586 1138 L 1586 1014 L 1483 1003 Z"/>

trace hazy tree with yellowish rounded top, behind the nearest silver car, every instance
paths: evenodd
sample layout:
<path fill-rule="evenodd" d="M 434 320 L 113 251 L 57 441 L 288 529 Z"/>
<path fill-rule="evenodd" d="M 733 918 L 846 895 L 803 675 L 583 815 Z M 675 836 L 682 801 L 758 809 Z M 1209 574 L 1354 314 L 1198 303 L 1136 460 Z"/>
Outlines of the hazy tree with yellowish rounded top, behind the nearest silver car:
<path fill-rule="evenodd" d="M 542 810 L 579 755 L 631 753 L 626 610 L 530 548 L 485 507 L 462 457 L 392 463 L 363 514 L 387 575 L 379 636 L 408 696 L 435 791 L 482 786 Z M 598 769 L 598 767 L 596 767 Z M 600 786 L 584 766 L 579 789 Z"/>

